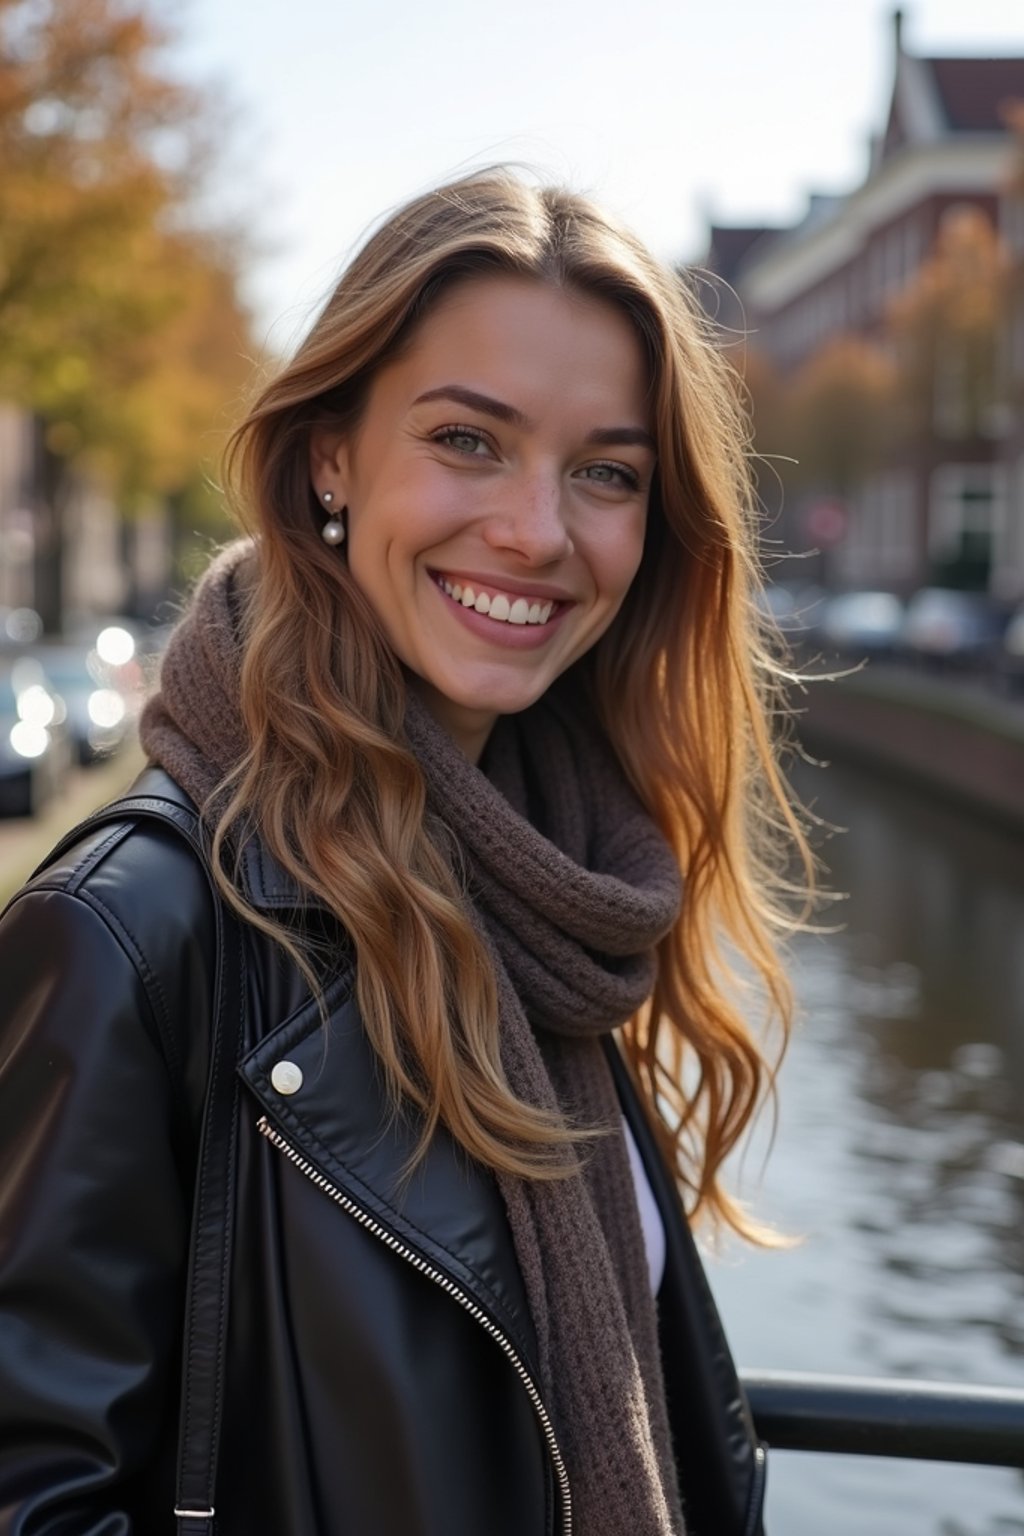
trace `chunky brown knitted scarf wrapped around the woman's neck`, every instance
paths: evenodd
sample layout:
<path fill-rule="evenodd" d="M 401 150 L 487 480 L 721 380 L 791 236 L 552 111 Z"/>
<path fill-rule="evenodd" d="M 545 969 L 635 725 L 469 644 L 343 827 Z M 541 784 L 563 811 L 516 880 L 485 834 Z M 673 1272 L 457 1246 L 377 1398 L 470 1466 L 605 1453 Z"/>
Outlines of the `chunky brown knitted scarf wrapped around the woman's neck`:
<path fill-rule="evenodd" d="M 244 750 L 232 576 L 207 571 L 175 631 L 143 745 L 198 802 Z M 568 1468 L 577 1536 L 679 1536 L 643 1233 L 600 1035 L 654 986 L 679 911 L 671 849 L 602 733 L 551 697 L 497 722 L 481 768 L 410 691 L 405 734 L 430 808 L 454 833 L 497 977 L 502 1061 L 525 1101 L 608 1127 L 582 1175 L 499 1175 Z"/>

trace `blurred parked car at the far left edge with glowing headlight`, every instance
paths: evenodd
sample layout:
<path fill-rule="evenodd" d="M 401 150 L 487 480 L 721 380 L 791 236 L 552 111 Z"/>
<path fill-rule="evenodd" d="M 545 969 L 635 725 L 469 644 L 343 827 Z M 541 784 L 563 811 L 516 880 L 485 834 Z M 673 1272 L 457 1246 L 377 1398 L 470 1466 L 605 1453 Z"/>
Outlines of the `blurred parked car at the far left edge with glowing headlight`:
<path fill-rule="evenodd" d="M 32 816 L 71 760 L 64 705 L 31 656 L 0 653 L 0 816 Z"/>

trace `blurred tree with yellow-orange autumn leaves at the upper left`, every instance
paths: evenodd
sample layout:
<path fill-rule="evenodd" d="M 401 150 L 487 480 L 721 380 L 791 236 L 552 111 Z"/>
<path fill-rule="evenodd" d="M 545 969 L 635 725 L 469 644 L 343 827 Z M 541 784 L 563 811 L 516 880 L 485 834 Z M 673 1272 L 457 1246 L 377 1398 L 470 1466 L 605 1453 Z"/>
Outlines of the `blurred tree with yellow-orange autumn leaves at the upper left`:
<path fill-rule="evenodd" d="M 220 123 L 167 43 L 141 0 L 0 0 L 0 398 L 46 424 L 51 622 L 69 472 L 189 495 L 252 352 L 244 243 L 197 212 Z"/>

